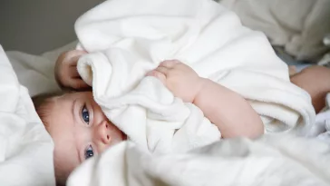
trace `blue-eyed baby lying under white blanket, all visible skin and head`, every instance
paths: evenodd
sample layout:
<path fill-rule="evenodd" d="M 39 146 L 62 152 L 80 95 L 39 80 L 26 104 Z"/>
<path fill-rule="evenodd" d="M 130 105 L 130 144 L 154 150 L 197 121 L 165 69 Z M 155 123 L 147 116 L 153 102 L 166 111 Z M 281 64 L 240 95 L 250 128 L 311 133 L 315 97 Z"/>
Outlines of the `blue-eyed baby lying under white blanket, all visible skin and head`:
<path fill-rule="evenodd" d="M 76 70 L 82 54 L 86 53 L 74 50 L 59 56 L 55 76 L 63 88 L 89 88 Z M 319 75 L 316 80 L 322 78 L 325 83 L 315 87 L 315 74 Z M 184 102 L 198 106 L 205 117 L 218 127 L 223 138 L 256 138 L 264 132 L 260 117 L 243 97 L 199 77 L 186 64 L 176 60 L 164 61 L 147 75 L 157 77 Z M 309 68 L 293 75 L 291 81 L 311 94 L 316 111 L 325 106 L 325 93 L 330 92 L 329 69 Z M 64 183 L 71 171 L 84 160 L 126 140 L 126 135 L 106 118 L 94 102 L 92 92 L 42 95 L 34 98 L 34 104 L 55 144 L 54 167 L 59 183 Z"/>

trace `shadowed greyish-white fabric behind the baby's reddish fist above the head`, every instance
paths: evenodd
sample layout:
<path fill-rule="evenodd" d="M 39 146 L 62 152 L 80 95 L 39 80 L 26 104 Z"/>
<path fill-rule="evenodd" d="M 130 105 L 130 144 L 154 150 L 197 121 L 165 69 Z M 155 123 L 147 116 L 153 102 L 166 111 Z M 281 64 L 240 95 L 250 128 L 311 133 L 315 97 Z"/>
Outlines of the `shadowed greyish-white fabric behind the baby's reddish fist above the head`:
<path fill-rule="evenodd" d="M 34 96 L 40 93 L 61 91 L 54 78 L 54 65 L 64 51 L 73 50 L 77 42 L 66 44 L 41 55 L 25 54 L 19 51 L 6 51 L 19 83 Z"/>

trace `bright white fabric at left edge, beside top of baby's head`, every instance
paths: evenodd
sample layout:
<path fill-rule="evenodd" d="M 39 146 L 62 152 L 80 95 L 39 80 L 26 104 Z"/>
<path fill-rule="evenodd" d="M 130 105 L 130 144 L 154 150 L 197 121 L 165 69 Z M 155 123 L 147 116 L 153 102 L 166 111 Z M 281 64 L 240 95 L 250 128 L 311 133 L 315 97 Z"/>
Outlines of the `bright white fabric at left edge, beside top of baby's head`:
<path fill-rule="evenodd" d="M 0 185 L 55 185 L 53 141 L 0 45 Z"/>

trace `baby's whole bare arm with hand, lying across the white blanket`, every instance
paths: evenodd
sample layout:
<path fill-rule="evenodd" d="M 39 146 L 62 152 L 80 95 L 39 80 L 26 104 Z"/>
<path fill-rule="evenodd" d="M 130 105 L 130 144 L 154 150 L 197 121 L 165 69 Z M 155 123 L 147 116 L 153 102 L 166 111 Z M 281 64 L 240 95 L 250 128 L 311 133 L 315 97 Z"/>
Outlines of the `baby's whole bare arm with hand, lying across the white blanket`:
<path fill-rule="evenodd" d="M 263 134 L 260 117 L 243 97 L 218 83 L 199 77 L 186 64 L 165 61 L 149 75 L 158 77 L 184 102 L 198 106 L 209 121 L 218 126 L 223 138 L 256 138 Z"/>

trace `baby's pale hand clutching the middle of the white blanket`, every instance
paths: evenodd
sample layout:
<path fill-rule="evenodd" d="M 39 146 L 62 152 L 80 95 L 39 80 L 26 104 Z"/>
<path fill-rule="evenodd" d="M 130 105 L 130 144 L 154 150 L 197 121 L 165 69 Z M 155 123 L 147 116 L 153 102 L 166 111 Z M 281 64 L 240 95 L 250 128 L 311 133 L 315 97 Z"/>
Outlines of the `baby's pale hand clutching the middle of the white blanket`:
<path fill-rule="evenodd" d="M 177 60 L 164 61 L 147 75 L 160 79 L 174 96 L 186 103 L 194 102 L 203 85 L 203 78 L 188 65 Z"/>

